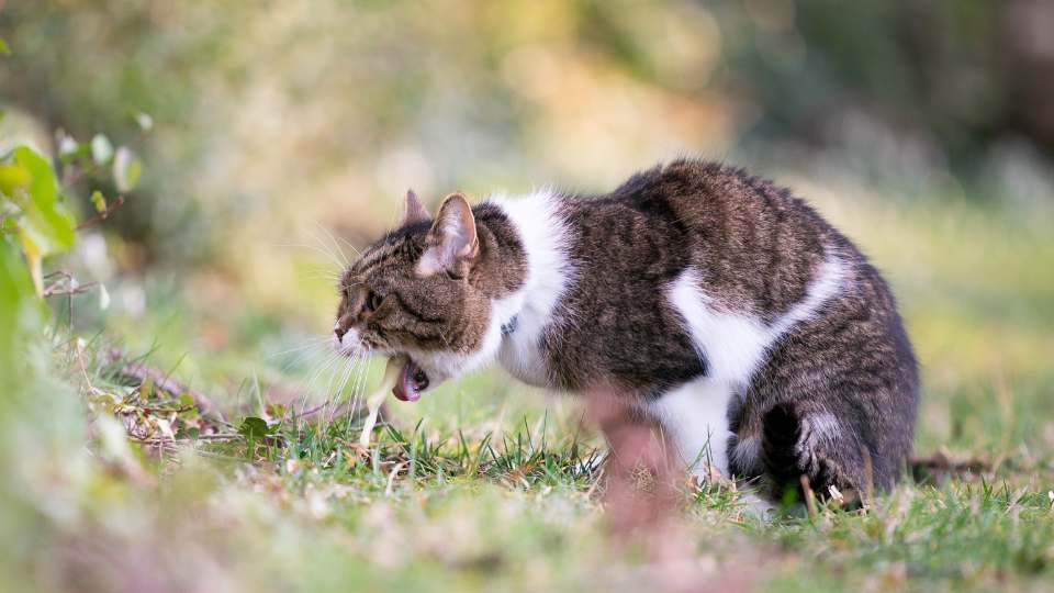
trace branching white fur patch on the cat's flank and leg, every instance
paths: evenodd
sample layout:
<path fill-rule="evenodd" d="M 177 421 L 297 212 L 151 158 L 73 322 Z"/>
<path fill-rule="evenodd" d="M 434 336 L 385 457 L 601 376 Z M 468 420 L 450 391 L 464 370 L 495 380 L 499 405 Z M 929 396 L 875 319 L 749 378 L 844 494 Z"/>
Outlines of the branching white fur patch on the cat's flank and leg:
<path fill-rule="evenodd" d="M 673 434 L 682 459 L 693 472 L 705 475 L 706 466 L 695 461 L 709 443 L 714 468 L 728 473 L 728 406 L 733 394 L 749 384 L 776 340 L 795 324 L 815 316 L 825 302 L 838 294 L 846 273 L 841 259 L 828 257 L 806 296 L 767 326 L 754 315 L 729 311 L 706 294 L 694 268 L 686 269 L 671 284 L 670 302 L 684 320 L 696 349 L 706 358 L 707 377 L 684 383 L 650 402 L 648 407 Z M 819 427 L 825 430 L 831 426 L 837 427 L 837 422 L 821 422 Z M 755 454 L 756 445 L 736 451 L 744 456 Z"/>

